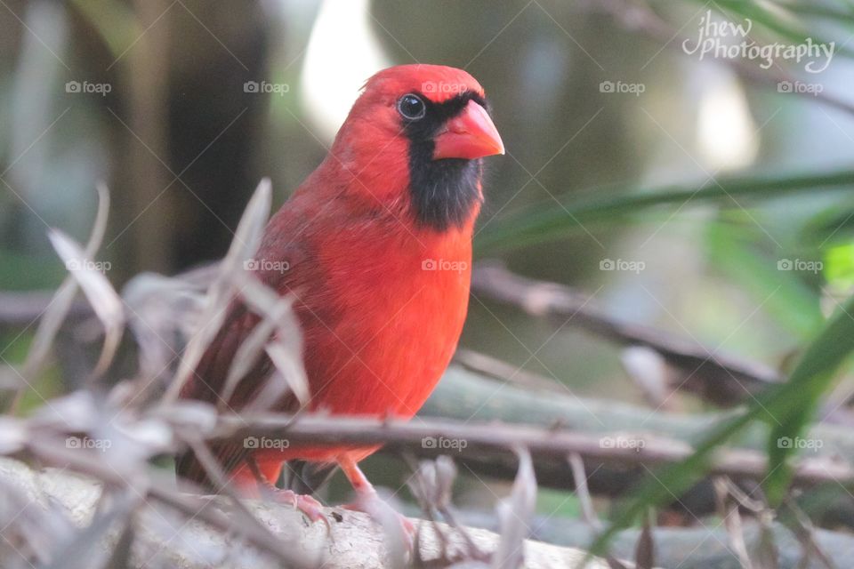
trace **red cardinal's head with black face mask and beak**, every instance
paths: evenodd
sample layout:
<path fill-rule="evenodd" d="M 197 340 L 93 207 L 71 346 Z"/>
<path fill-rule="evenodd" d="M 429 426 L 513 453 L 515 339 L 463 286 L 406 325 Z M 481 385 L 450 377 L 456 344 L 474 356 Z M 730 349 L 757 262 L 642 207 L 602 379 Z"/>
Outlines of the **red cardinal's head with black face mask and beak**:
<path fill-rule="evenodd" d="M 418 226 L 470 225 L 483 156 L 504 154 L 483 88 L 462 69 L 401 65 L 367 80 L 335 139 L 354 191 Z"/>

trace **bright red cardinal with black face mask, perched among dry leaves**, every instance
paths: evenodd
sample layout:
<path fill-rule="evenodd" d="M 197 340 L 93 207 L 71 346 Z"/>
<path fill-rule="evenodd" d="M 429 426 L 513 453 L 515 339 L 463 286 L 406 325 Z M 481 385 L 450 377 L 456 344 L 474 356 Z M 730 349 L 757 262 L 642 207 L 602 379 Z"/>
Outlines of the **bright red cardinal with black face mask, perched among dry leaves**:
<path fill-rule="evenodd" d="M 504 154 L 487 108 L 483 88 L 461 69 L 384 69 L 365 84 L 323 163 L 270 220 L 256 254 L 265 263 L 255 275 L 294 297 L 310 411 L 408 419 L 445 371 L 468 307 L 480 158 Z M 289 269 L 264 270 L 270 261 Z M 220 403 L 231 360 L 258 322 L 232 301 L 181 397 Z M 259 360 L 230 408 L 251 402 L 272 371 L 269 359 Z M 293 395 L 271 406 L 299 408 Z M 358 463 L 376 448 L 215 451 L 248 492 L 275 483 L 286 461 L 308 461 L 339 465 L 366 498 L 374 489 Z M 177 471 L 212 486 L 192 453 L 180 457 Z M 289 495 L 316 512 L 310 497 Z"/>

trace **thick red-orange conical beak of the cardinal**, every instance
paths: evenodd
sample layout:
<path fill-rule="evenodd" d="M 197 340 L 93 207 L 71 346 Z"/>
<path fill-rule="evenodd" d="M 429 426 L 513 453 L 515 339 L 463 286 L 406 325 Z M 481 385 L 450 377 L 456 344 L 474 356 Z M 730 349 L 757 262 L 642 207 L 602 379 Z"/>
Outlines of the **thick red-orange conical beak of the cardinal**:
<path fill-rule="evenodd" d="M 433 160 L 440 158 L 480 158 L 504 154 L 504 142 L 498 135 L 487 109 L 470 100 L 463 112 L 451 118 L 433 140 Z"/>

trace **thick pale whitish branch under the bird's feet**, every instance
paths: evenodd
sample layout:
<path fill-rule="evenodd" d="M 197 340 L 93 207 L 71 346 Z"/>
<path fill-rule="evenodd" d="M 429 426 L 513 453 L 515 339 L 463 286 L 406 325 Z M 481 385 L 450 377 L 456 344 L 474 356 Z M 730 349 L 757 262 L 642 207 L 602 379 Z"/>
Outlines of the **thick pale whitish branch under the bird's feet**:
<path fill-rule="evenodd" d="M 50 454 L 54 455 L 52 452 Z M 76 462 L 73 467 L 86 469 L 83 462 Z M 91 523 L 95 505 L 101 496 L 101 484 L 96 480 L 107 480 L 108 486 L 125 485 L 116 473 L 99 470 L 93 475 L 78 477 L 58 469 L 36 473 L 22 462 L 0 460 L 0 479 L 19 489 L 19 497 L 23 495 L 29 503 L 38 504 L 43 509 L 58 506 L 67 512 L 69 521 L 79 528 Z M 302 514 L 287 505 L 246 501 L 249 511 L 281 541 L 278 549 L 290 549 L 289 560 L 283 563 L 281 555 L 259 555 L 259 551 L 270 553 L 270 545 L 266 540 L 253 539 L 252 534 L 242 525 L 238 531 L 226 513 L 230 508 L 228 499 L 207 498 L 204 500 L 205 505 L 199 508 L 197 501 L 189 502 L 187 496 L 170 493 L 154 485 L 149 488 L 149 496 L 155 500 L 168 496 L 165 501 L 172 507 L 177 504 L 177 509 L 188 519 L 186 523 L 178 522 L 170 527 L 176 533 L 169 537 L 161 534 L 165 525 L 162 513 L 155 511 L 153 505 L 144 505 L 137 514 L 139 524 L 133 543 L 132 566 L 157 565 L 154 557 L 162 557 L 166 563 L 161 565 L 176 569 L 266 569 L 281 566 L 382 569 L 388 566 L 385 563 L 386 547 L 382 531 L 367 515 L 359 512 L 326 508 L 326 516 L 334 520 L 330 529 L 323 524 L 306 524 Z M 423 559 L 428 562 L 436 563 L 465 547 L 458 533 L 447 525 L 439 526 L 447 534 L 449 547 L 454 551 L 443 549 L 433 528 L 422 524 L 418 547 Z M 467 533 L 480 549 L 495 550 L 498 541 L 495 533 L 473 528 L 468 529 Z M 226 534 L 232 537 L 226 537 Z M 235 534 L 238 539 L 235 539 Z M 99 543 L 99 547 L 109 552 L 118 539 L 118 535 L 112 535 Z M 584 558 L 584 552 L 579 549 L 537 541 L 527 541 L 525 553 L 525 567 L 530 569 L 570 569 Z M 608 564 L 599 559 L 593 559 L 587 566 L 591 569 L 608 569 Z"/>

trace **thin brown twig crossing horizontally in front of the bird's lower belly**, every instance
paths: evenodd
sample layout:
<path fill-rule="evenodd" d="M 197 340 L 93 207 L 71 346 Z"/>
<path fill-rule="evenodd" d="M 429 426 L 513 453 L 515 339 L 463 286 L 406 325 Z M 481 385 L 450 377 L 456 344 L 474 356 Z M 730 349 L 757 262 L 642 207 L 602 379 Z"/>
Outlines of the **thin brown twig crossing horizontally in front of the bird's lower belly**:
<path fill-rule="evenodd" d="M 221 416 L 209 441 L 238 442 L 246 437 L 287 440 L 290 448 L 306 445 L 379 445 L 395 452 L 410 450 L 422 455 L 447 454 L 441 445 L 424 445 L 435 439 L 465 443 L 466 453 L 506 453 L 507 449 L 526 448 L 547 460 L 565 460 L 577 453 L 585 460 L 608 461 L 628 465 L 655 465 L 682 461 L 693 452 L 690 445 L 663 437 L 624 436 L 633 445 L 607 445 L 595 435 L 542 429 L 525 425 L 471 424 L 458 421 L 421 420 L 417 422 L 377 421 L 354 417 L 302 416 L 298 421 L 285 414 Z M 748 450 L 722 451 L 709 464 L 709 473 L 736 478 L 763 479 L 768 461 L 764 453 Z M 795 465 L 797 485 L 838 482 L 854 486 L 854 468 L 842 461 L 802 459 Z"/>

